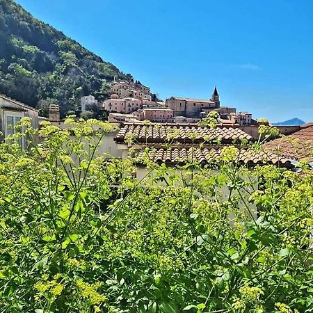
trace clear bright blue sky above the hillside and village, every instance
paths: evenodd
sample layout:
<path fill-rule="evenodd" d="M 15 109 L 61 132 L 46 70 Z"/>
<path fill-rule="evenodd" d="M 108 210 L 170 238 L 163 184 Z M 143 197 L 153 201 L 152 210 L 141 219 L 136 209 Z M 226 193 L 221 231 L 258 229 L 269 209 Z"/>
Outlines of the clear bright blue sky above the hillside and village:
<path fill-rule="evenodd" d="M 313 121 L 313 0 L 17 0 L 170 96 Z"/>

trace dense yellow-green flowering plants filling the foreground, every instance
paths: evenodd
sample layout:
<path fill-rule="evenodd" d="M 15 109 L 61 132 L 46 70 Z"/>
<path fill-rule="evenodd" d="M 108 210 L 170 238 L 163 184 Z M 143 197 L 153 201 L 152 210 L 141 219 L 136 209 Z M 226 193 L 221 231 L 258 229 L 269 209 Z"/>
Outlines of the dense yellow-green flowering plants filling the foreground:
<path fill-rule="evenodd" d="M 109 124 L 67 122 L 0 145 L 0 312 L 313 312 L 310 170 L 229 147 L 136 179 L 95 153 Z"/>

